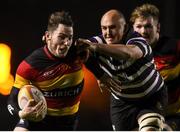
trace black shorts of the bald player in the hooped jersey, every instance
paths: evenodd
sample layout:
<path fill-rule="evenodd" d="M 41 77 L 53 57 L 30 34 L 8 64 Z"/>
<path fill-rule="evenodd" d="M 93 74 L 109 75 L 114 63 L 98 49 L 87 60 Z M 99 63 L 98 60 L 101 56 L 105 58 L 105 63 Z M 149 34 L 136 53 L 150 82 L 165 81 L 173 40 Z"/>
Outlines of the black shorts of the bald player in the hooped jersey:
<path fill-rule="evenodd" d="M 111 96 L 111 121 L 116 131 L 131 131 L 138 128 L 137 119 L 146 113 L 164 115 L 164 107 L 168 101 L 167 88 L 164 86 L 148 98 L 136 101 L 115 99 Z"/>

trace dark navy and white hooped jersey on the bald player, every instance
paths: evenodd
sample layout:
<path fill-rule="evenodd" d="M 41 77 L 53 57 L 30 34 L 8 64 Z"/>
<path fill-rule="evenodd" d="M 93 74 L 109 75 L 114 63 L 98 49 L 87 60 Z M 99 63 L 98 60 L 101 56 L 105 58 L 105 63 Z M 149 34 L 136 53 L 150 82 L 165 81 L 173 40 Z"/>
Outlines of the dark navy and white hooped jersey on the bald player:
<path fill-rule="evenodd" d="M 89 39 L 97 44 L 105 44 L 102 36 Z M 139 34 L 133 33 L 125 42 L 125 45 L 136 45 L 143 57 L 138 60 L 114 59 L 99 53 L 93 53 L 101 70 L 121 82 L 121 92 L 112 91 L 112 95 L 118 98 L 140 99 L 152 95 L 164 85 L 164 81 L 157 72 L 151 47 Z"/>

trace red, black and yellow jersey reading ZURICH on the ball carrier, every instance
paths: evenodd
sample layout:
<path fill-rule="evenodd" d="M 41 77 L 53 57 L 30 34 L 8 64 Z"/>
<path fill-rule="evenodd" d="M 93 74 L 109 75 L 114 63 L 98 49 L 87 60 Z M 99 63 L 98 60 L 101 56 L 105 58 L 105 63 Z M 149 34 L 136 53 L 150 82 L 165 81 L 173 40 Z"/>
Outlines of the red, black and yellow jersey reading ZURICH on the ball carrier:
<path fill-rule="evenodd" d="M 48 115 L 72 115 L 79 109 L 84 85 L 82 62 L 78 58 L 54 57 L 46 46 L 35 50 L 19 65 L 14 87 L 32 84 L 44 94 Z"/>

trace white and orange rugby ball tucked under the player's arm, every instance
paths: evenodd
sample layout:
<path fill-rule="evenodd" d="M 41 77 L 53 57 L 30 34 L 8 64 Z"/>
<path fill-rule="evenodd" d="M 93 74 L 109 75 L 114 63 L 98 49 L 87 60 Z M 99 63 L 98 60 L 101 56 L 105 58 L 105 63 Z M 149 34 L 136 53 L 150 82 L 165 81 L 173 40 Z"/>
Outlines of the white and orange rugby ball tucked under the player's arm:
<path fill-rule="evenodd" d="M 47 102 L 46 99 L 43 95 L 43 93 L 34 85 L 24 85 L 19 93 L 18 93 L 18 105 L 21 109 L 25 107 L 27 104 L 28 100 L 34 99 L 35 100 L 35 105 L 40 102 L 41 100 L 43 103 L 46 105 L 45 109 L 41 111 L 41 119 L 37 119 L 34 121 L 39 121 L 42 120 L 46 114 L 47 114 Z"/>

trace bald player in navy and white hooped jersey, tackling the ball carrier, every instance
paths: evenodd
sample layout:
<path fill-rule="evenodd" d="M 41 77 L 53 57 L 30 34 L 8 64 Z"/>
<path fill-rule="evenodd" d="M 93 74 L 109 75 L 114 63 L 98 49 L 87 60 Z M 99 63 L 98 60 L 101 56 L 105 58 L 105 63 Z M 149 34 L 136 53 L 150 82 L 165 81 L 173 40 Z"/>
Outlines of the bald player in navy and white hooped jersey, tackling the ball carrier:
<path fill-rule="evenodd" d="M 162 130 L 166 86 L 155 69 L 150 45 L 136 32 L 126 35 L 125 26 L 123 14 L 109 10 L 101 19 L 102 35 L 79 39 L 77 46 L 89 49 L 86 66 L 100 87 L 111 92 L 113 130 Z"/>

